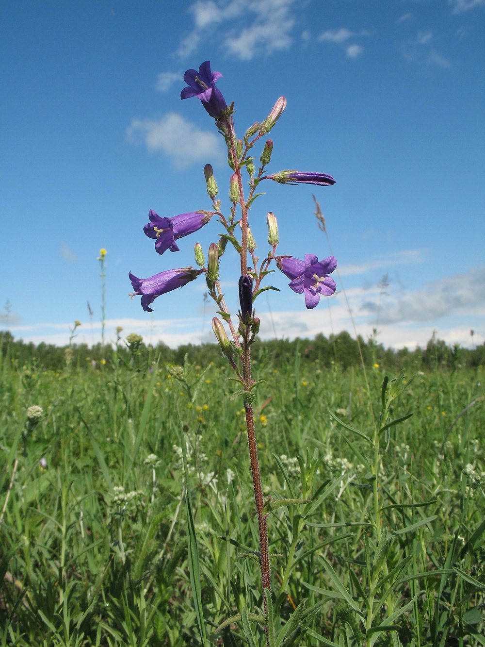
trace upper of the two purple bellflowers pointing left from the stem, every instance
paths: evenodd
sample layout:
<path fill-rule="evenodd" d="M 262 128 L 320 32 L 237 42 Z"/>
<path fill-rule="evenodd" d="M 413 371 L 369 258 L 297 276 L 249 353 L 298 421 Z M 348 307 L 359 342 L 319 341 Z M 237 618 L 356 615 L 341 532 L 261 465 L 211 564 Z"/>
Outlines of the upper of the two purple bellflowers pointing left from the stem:
<path fill-rule="evenodd" d="M 178 252 L 180 250 L 175 243 L 177 238 L 197 232 L 200 227 L 210 221 L 212 216 L 212 212 L 199 211 L 174 215 L 173 218 L 160 218 L 150 209 L 148 212 L 150 222 L 144 226 L 143 230 L 149 238 L 156 239 L 155 250 L 158 254 L 163 254 L 167 249 L 171 252 Z"/>

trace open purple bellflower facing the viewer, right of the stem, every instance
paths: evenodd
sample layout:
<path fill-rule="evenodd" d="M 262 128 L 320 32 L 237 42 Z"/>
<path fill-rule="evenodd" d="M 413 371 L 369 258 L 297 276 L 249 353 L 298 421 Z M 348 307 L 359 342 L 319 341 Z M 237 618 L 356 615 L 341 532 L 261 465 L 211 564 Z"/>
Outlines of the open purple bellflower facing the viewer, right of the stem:
<path fill-rule="evenodd" d="M 277 266 L 291 279 L 290 288 L 298 294 L 305 294 L 305 305 L 308 310 L 314 308 L 320 300 L 320 294 L 330 296 L 336 291 L 335 281 L 328 276 L 337 267 L 334 256 L 318 261 L 315 254 L 305 254 L 305 261 L 293 256 L 279 256 Z"/>

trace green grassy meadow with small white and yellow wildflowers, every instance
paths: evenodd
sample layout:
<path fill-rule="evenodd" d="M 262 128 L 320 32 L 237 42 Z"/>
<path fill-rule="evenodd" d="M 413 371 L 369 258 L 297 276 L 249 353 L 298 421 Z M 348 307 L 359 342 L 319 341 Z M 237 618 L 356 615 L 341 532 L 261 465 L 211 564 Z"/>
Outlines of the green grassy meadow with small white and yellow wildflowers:
<path fill-rule="evenodd" d="M 275 644 L 485 645 L 481 364 L 315 343 L 253 362 Z M 162 351 L 4 348 L 2 646 L 266 644 L 232 370 Z"/>

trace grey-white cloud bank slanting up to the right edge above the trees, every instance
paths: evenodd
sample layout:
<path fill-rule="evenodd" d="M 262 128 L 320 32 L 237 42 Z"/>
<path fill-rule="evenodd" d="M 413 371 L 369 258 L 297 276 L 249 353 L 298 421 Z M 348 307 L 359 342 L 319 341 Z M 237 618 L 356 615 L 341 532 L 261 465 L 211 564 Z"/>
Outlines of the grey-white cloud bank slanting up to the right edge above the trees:
<path fill-rule="evenodd" d="M 405 294 L 387 303 L 380 315 L 382 323 L 430 322 L 460 309 L 485 305 L 485 265 L 467 274 L 455 274 L 428 283 L 423 289 Z M 378 303 L 368 301 L 362 309 L 374 313 Z"/>

